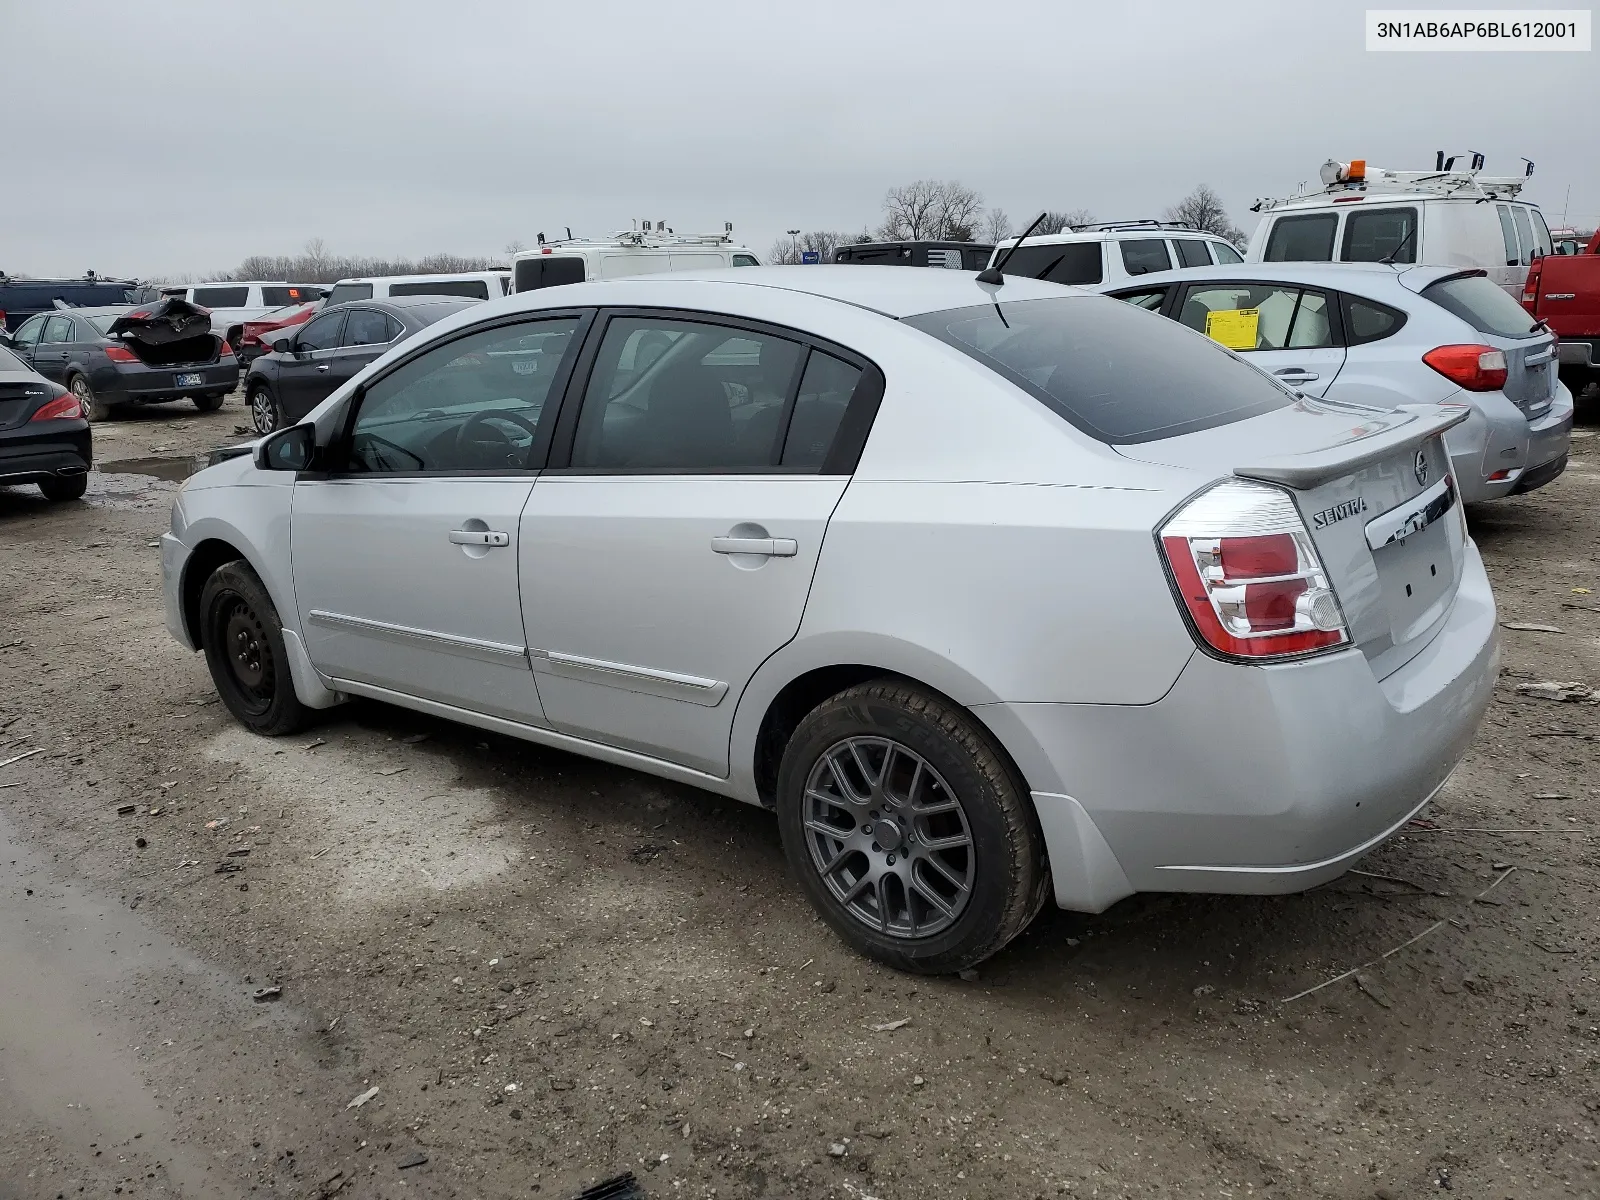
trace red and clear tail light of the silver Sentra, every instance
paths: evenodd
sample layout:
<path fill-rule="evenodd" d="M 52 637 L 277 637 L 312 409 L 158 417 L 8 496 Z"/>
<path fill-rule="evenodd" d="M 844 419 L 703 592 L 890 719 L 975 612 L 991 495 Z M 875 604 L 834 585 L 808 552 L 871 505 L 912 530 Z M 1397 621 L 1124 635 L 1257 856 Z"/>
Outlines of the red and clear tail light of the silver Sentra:
<path fill-rule="evenodd" d="M 1160 539 L 1195 632 L 1218 654 L 1259 662 L 1350 640 L 1288 493 L 1226 480 L 1179 509 Z"/>

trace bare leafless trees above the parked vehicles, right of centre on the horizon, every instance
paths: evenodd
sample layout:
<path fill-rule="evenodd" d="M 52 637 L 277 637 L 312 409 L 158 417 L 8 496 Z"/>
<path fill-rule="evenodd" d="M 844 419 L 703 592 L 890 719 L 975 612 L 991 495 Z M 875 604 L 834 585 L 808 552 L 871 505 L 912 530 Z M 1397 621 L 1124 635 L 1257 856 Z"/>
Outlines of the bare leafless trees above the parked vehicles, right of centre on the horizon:
<path fill-rule="evenodd" d="M 1162 211 L 1162 221 L 1218 234 L 1237 246 L 1245 243 L 1245 230 L 1234 224 L 1222 205 L 1222 197 L 1206 184 L 1200 184 L 1174 205 Z M 1094 214 L 1086 208 L 1064 211 L 1046 210 L 1034 234 L 1061 234 L 1093 224 Z M 1032 221 L 1026 222 L 1032 224 Z M 806 251 L 816 253 L 822 262 L 832 262 L 840 246 L 867 242 L 986 242 L 998 243 L 1019 229 L 1003 208 L 986 208 L 981 192 L 955 179 L 917 179 L 891 187 L 883 195 L 883 219 L 875 229 L 862 227 L 856 234 L 810 229 L 789 234 L 773 242 L 766 261 L 773 264 L 802 262 Z"/>

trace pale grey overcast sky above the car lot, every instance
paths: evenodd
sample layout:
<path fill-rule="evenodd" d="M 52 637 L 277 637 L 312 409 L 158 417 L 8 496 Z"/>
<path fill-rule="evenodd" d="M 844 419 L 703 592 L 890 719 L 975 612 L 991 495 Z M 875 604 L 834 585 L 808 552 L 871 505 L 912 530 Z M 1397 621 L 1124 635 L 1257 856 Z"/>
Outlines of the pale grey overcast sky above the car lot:
<path fill-rule="evenodd" d="M 877 224 L 917 178 L 1022 222 L 1155 216 L 1205 181 L 1248 232 L 1328 157 L 1435 149 L 1526 155 L 1552 226 L 1568 187 L 1600 219 L 1595 53 L 1368 53 L 1363 10 L 0 0 L 0 267 L 160 277 L 310 237 L 494 254 L 630 218 L 733 221 L 765 253 Z"/>

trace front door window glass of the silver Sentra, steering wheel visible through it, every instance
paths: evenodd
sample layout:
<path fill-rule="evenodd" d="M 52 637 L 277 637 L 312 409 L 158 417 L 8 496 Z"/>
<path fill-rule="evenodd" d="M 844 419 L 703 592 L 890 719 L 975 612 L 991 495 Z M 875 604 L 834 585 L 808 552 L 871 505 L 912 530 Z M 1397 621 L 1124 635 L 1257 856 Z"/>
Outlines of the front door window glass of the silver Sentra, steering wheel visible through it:
<path fill-rule="evenodd" d="M 576 317 L 501 325 L 390 371 L 362 397 L 349 470 L 525 469 L 576 328 Z"/>

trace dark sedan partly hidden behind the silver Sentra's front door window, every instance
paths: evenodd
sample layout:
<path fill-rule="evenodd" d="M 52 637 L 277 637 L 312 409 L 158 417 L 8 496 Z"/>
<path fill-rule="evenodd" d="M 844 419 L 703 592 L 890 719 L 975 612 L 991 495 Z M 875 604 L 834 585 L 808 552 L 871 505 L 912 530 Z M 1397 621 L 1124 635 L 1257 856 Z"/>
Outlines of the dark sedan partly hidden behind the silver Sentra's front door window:
<path fill-rule="evenodd" d="M 272 347 L 250 365 L 245 402 L 256 430 L 291 426 L 326 400 L 366 363 L 454 312 L 480 301 L 450 296 L 397 296 L 323 309 L 296 330 L 269 333 Z"/>

